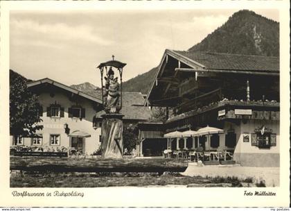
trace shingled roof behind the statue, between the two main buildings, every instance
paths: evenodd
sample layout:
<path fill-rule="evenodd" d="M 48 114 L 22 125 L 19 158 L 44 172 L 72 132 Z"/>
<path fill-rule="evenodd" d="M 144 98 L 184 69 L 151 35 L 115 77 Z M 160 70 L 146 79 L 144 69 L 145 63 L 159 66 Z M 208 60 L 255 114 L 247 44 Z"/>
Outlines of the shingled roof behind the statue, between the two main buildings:
<path fill-rule="evenodd" d="M 101 90 L 86 89 L 80 90 L 90 96 L 94 96 L 97 99 L 101 98 Z M 124 115 L 123 119 L 135 119 L 135 120 L 148 120 L 151 117 L 151 112 L 148 107 L 144 107 L 144 98 L 141 92 L 123 92 L 123 106 L 121 114 Z M 105 114 L 104 111 L 97 113 L 97 117 Z"/>

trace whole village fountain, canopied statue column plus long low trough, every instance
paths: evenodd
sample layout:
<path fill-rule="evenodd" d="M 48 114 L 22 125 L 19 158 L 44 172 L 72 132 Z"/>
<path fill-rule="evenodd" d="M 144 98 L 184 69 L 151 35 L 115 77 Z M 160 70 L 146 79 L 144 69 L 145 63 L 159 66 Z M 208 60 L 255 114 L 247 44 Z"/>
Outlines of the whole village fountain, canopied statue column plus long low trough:
<path fill-rule="evenodd" d="M 10 158 L 10 170 L 37 172 L 183 172 L 188 160 L 171 158 L 123 158 L 122 74 L 125 63 L 100 63 L 102 102 L 105 114 L 101 128 L 102 158 Z M 119 83 L 118 76 L 119 74 Z M 105 83 L 103 85 L 103 79 Z M 48 154 L 46 154 L 48 156 Z M 52 156 L 52 155 L 49 155 Z M 55 155 L 54 155 L 55 156 Z M 65 156 L 67 157 L 67 156 Z"/>

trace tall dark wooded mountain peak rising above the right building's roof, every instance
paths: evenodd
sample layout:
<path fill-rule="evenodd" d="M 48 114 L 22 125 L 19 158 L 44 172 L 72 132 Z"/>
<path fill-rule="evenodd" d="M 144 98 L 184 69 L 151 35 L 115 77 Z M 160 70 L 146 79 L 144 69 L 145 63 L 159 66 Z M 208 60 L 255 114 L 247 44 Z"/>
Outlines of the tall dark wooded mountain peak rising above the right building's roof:
<path fill-rule="evenodd" d="M 240 10 L 188 51 L 279 56 L 279 23 Z"/>

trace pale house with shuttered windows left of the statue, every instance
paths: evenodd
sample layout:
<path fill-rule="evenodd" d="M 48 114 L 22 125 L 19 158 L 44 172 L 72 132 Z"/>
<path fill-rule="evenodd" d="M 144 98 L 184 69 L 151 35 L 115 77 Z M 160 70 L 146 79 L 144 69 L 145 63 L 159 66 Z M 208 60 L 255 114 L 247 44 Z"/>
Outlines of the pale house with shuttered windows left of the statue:
<path fill-rule="evenodd" d="M 93 128 L 92 118 L 101 101 L 49 78 L 27 84 L 39 96 L 43 129 L 37 137 L 11 137 L 11 145 L 41 146 L 44 150 L 59 151 L 63 147 L 91 154 L 98 149 L 100 128 Z"/>

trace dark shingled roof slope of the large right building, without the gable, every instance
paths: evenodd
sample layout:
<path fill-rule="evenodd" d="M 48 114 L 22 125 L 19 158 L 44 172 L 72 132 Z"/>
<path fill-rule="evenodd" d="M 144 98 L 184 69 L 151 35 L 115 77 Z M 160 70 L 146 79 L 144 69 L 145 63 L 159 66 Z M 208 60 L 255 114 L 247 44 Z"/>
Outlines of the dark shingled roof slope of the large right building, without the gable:
<path fill-rule="evenodd" d="M 279 71 L 279 57 L 249 56 L 201 51 L 174 51 L 204 65 L 204 69 L 229 69 L 245 71 Z"/>

